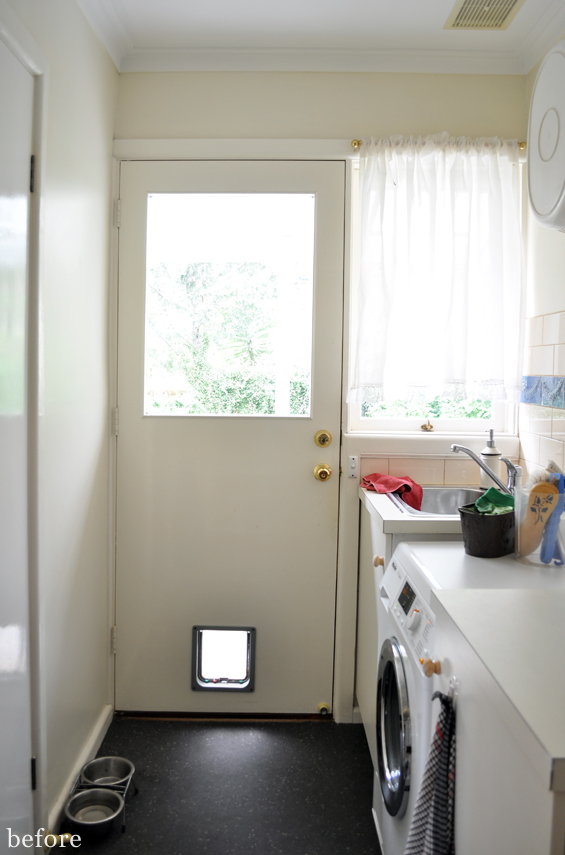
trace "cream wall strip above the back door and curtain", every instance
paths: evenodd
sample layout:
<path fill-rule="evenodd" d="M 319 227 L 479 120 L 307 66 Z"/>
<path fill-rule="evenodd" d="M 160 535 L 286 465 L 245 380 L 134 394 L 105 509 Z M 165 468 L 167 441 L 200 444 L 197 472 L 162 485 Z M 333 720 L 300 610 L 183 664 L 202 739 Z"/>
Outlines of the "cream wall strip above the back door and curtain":
<path fill-rule="evenodd" d="M 118 139 L 353 139 L 443 130 L 525 139 L 524 78 L 315 72 L 120 76 Z"/>

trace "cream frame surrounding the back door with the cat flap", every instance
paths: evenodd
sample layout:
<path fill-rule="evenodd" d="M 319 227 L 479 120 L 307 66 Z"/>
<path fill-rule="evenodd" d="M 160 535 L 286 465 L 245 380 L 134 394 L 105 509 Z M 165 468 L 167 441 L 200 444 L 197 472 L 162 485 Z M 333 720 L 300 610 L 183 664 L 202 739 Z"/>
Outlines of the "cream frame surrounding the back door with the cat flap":
<path fill-rule="evenodd" d="M 349 300 L 351 286 L 351 187 L 353 161 L 358 155 L 353 151 L 350 140 L 115 140 L 113 147 L 114 211 L 111 241 L 110 269 L 110 317 L 109 317 L 109 429 L 113 442 L 110 446 L 110 590 L 115 592 L 116 578 L 116 433 L 114 413 L 117 407 L 118 368 L 118 229 L 119 229 L 119 166 L 126 160 L 338 160 L 345 164 L 345 231 L 344 231 L 344 306 L 342 332 L 343 378 L 348 372 Z M 342 389 L 347 383 L 342 381 Z M 344 431 L 345 392 L 342 394 L 342 432 Z M 334 641 L 334 690 L 333 715 L 337 722 L 360 721 L 354 715 L 355 691 L 355 640 L 357 616 L 357 550 L 359 527 L 359 502 L 357 490 L 349 482 L 340 479 L 337 586 Z M 355 481 L 357 486 L 357 481 Z M 110 626 L 115 626 L 115 595 L 110 605 Z M 110 680 L 115 685 L 114 664 Z"/>

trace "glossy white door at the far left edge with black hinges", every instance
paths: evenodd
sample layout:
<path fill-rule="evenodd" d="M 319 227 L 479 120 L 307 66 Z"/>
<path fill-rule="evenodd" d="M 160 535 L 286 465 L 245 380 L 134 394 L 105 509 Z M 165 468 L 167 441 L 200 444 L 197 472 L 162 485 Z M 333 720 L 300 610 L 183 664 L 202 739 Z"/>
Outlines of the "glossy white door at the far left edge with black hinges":
<path fill-rule="evenodd" d="M 18 838 L 31 833 L 33 810 L 26 403 L 33 77 L 1 40 L 0 80 L 0 834 L 8 841 L 7 829 Z"/>

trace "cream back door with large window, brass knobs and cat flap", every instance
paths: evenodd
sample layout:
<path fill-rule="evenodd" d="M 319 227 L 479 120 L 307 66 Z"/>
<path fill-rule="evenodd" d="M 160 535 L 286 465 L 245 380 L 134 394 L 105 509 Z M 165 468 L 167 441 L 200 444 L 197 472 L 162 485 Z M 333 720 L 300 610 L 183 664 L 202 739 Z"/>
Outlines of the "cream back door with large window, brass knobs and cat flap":
<path fill-rule="evenodd" d="M 122 164 L 117 709 L 331 709 L 344 179 Z M 253 691 L 192 688 L 195 626 L 254 630 Z"/>

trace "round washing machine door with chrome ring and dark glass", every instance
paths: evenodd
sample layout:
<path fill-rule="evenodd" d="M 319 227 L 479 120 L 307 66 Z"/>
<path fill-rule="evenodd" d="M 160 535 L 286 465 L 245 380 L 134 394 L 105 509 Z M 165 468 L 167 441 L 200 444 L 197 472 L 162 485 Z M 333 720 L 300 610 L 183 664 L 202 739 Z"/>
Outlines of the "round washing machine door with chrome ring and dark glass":
<path fill-rule="evenodd" d="M 408 803 L 412 751 L 405 662 L 402 644 L 387 638 L 377 674 L 377 759 L 385 807 L 398 818 Z"/>

